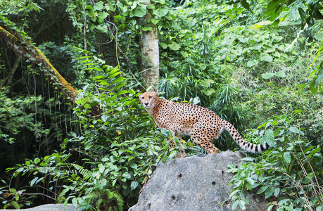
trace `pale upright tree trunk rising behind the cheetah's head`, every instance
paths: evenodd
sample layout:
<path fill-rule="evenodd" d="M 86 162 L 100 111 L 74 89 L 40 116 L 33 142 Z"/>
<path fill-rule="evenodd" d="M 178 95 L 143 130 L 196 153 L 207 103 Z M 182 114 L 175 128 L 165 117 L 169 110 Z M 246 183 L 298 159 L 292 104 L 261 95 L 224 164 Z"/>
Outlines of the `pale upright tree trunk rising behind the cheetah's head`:
<path fill-rule="evenodd" d="M 151 4 L 151 1 L 146 1 L 145 4 Z M 146 22 L 148 18 L 152 18 L 151 13 L 147 11 L 144 16 L 144 25 L 148 25 Z M 142 67 L 141 77 L 144 79 L 144 87 L 151 90 L 158 90 L 158 79 L 159 79 L 159 48 L 158 48 L 158 31 L 156 25 L 150 24 L 153 27 L 151 31 L 142 31 L 141 37 L 141 53 Z"/>

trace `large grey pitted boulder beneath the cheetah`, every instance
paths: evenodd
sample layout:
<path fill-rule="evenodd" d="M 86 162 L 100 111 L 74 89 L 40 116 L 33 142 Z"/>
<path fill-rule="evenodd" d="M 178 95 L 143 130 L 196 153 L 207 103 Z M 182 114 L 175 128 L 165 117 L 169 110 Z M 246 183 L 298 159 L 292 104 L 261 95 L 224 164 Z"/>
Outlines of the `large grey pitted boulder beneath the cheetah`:
<path fill-rule="evenodd" d="M 233 203 L 228 198 L 232 184 L 228 184 L 234 175 L 227 172 L 227 165 L 239 166 L 243 157 L 241 151 L 226 151 L 160 162 L 137 205 L 129 211 L 231 210 Z M 267 210 L 268 202 L 255 193 L 246 193 L 245 197 L 250 203 L 247 210 Z"/>

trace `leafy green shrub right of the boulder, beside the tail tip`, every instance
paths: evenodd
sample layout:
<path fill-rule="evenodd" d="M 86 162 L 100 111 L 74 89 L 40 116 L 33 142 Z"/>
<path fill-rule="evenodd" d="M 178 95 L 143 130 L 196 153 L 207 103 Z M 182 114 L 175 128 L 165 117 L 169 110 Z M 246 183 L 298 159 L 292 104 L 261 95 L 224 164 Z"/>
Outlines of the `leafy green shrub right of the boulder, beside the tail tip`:
<path fill-rule="evenodd" d="M 228 172 L 236 173 L 230 198 L 232 210 L 238 205 L 246 210 L 244 191 L 257 190 L 266 199 L 272 199 L 268 210 L 322 210 L 323 157 L 319 146 L 311 146 L 303 138 L 304 133 L 291 124 L 293 115 L 281 115 L 270 119 L 251 132 L 251 136 L 272 146 L 262 159 L 243 158 L 245 163 Z M 259 130 L 261 129 L 261 130 Z"/>

